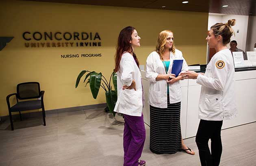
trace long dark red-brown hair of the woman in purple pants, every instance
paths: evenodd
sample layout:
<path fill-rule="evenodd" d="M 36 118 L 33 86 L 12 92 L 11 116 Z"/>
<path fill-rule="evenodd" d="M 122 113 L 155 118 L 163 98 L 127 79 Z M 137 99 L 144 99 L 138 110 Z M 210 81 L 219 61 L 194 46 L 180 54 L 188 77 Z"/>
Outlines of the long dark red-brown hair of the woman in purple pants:
<path fill-rule="evenodd" d="M 130 41 L 132 40 L 132 33 L 134 30 L 135 30 L 134 27 L 128 26 L 128 27 L 122 29 L 121 32 L 119 33 L 118 40 L 117 40 L 117 51 L 115 54 L 114 72 L 117 72 L 120 69 L 120 61 L 121 61 L 122 54 L 125 51 L 128 52 L 128 51 L 132 50 L 132 45 L 131 45 Z M 139 67 L 139 61 L 138 61 L 136 54 L 133 52 L 133 50 L 130 53 L 132 53 L 132 56 L 137 64 L 137 66 Z"/>

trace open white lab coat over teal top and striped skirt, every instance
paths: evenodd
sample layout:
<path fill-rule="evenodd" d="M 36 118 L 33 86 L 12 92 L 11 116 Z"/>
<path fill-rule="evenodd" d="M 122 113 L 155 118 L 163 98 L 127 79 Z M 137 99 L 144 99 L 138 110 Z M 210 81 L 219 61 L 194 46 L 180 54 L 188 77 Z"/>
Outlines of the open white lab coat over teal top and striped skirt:
<path fill-rule="evenodd" d="M 170 65 L 167 73 L 171 73 L 173 60 L 183 60 L 182 70 L 188 70 L 188 65 L 182 56 L 182 52 L 175 50 L 175 55 L 170 52 Z M 167 82 L 166 80 L 156 81 L 158 74 L 166 74 L 165 66 L 156 51 L 148 55 L 145 77 L 150 81 L 149 103 L 158 108 L 167 108 Z M 182 97 L 180 81 L 169 84 L 169 102 L 180 102 Z"/>

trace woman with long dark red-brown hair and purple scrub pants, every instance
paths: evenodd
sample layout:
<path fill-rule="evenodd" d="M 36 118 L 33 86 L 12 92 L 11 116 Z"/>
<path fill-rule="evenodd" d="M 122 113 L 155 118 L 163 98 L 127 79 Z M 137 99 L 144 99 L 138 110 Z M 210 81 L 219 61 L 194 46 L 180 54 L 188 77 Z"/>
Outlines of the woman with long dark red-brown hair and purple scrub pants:
<path fill-rule="evenodd" d="M 135 28 L 121 30 L 115 55 L 117 72 L 117 103 L 114 111 L 124 115 L 124 166 L 145 166 L 139 160 L 145 142 L 143 121 L 143 87 L 139 61 L 134 53 L 140 47 L 140 37 Z"/>

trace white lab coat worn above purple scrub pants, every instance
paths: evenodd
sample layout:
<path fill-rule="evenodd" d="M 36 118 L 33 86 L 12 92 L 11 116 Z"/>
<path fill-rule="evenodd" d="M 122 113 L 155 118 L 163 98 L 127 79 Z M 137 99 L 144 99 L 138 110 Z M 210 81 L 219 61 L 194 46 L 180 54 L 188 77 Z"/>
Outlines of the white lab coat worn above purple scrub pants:
<path fill-rule="evenodd" d="M 135 89 L 122 90 L 123 85 L 130 86 L 135 80 Z M 131 116 L 141 116 L 142 113 L 142 87 L 141 72 L 133 56 L 124 52 L 120 61 L 120 70 L 117 72 L 117 103 L 115 112 Z"/>

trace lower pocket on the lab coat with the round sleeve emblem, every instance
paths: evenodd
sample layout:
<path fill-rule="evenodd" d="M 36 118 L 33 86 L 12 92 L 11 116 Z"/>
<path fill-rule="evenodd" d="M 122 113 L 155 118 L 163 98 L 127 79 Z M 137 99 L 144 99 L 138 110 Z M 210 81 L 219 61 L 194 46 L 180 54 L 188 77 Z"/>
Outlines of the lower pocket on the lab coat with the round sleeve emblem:
<path fill-rule="evenodd" d="M 212 94 L 212 95 L 205 94 L 204 109 L 206 111 L 219 112 L 221 110 L 220 101 L 221 101 L 220 94 Z"/>

